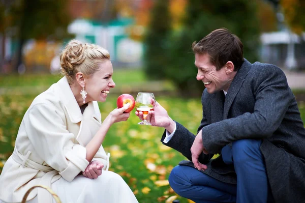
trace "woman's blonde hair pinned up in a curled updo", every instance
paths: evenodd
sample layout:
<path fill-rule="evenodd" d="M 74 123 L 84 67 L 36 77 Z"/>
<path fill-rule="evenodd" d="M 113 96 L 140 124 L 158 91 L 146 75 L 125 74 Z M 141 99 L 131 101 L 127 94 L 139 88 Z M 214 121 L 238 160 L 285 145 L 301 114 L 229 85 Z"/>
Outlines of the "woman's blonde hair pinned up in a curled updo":
<path fill-rule="evenodd" d="M 106 60 L 110 60 L 106 49 L 95 44 L 82 44 L 77 40 L 71 40 L 60 54 L 62 74 L 67 77 L 70 85 L 74 82 L 76 73 L 81 72 L 90 77 L 99 69 L 99 64 Z"/>

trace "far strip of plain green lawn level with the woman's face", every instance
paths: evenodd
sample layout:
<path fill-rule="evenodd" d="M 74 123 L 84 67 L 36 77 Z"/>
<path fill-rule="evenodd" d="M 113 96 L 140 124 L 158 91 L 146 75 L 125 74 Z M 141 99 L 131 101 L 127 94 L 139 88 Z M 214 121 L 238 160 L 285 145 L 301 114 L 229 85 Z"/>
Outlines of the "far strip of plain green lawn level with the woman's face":
<path fill-rule="evenodd" d="M 0 75 L 0 94 L 38 95 L 62 77 L 61 74 Z M 142 69 L 115 69 L 113 80 L 116 85 L 111 94 L 116 96 L 123 93 L 175 90 L 173 83 L 168 80 L 148 81 Z"/>

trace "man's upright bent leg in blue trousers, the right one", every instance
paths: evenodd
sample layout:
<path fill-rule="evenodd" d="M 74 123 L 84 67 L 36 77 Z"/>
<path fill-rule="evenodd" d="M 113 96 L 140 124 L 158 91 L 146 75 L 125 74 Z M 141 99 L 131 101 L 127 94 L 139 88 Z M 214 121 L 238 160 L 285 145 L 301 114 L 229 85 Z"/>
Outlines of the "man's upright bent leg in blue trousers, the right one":
<path fill-rule="evenodd" d="M 260 151 L 261 142 L 262 140 L 241 139 L 232 143 L 232 158 L 237 175 L 237 202 L 272 202 L 266 166 Z"/>

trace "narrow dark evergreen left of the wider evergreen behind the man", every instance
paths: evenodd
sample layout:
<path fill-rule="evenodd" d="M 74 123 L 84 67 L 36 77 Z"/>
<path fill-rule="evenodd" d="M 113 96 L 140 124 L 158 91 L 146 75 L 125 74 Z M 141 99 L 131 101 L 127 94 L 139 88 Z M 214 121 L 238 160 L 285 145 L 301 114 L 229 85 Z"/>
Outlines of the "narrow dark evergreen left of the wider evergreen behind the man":
<path fill-rule="evenodd" d="M 157 0 L 144 38 L 144 69 L 150 78 L 164 78 L 168 65 L 168 36 L 171 32 L 169 0 Z"/>

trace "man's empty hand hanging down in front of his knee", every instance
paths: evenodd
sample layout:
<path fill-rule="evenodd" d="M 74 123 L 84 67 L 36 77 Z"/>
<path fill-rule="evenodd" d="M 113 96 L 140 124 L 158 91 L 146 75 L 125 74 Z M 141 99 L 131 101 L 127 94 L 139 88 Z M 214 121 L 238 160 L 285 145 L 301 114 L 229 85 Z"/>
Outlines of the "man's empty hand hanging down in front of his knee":
<path fill-rule="evenodd" d="M 199 158 L 199 155 L 201 153 L 204 153 L 204 154 L 208 154 L 208 152 L 206 151 L 206 149 L 203 147 L 203 142 L 202 142 L 202 130 L 199 131 L 199 133 L 197 134 L 194 142 L 193 142 L 193 145 L 191 147 L 191 153 L 192 153 L 192 161 L 194 163 L 194 166 L 195 168 L 197 168 L 198 170 L 205 170 L 207 169 L 207 166 L 200 163 L 198 158 Z"/>

